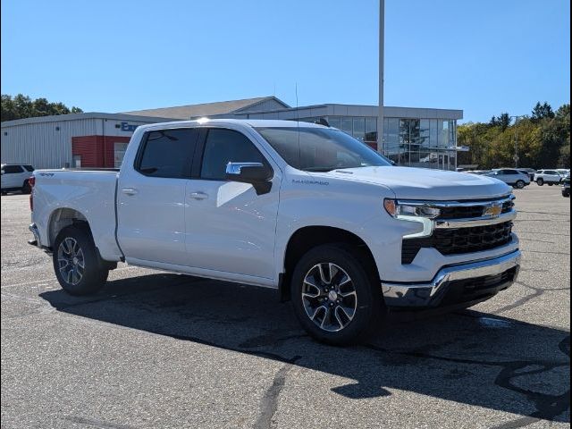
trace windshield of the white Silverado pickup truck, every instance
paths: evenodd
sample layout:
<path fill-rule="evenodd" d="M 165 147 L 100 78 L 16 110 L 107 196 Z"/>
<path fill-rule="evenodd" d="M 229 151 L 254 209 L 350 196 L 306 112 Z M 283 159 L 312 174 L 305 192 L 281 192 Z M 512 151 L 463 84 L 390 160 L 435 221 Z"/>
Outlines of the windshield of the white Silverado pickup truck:
<path fill-rule="evenodd" d="M 332 128 L 257 128 L 270 146 L 290 166 L 307 172 L 344 168 L 388 166 L 371 147 Z"/>

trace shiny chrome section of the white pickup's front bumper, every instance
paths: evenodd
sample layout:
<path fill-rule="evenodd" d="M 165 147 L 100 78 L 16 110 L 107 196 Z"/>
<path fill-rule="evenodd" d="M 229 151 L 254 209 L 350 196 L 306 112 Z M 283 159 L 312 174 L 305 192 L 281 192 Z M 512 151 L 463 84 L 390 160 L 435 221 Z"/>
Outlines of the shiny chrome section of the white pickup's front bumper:
<path fill-rule="evenodd" d="M 501 274 L 517 267 L 513 279 L 516 282 L 521 257 L 520 250 L 515 250 L 501 257 L 447 266 L 431 282 L 426 283 L 382 282 L 383 298 L 390 307 L 435 307 L 441 302 L 452 281 Z"/>

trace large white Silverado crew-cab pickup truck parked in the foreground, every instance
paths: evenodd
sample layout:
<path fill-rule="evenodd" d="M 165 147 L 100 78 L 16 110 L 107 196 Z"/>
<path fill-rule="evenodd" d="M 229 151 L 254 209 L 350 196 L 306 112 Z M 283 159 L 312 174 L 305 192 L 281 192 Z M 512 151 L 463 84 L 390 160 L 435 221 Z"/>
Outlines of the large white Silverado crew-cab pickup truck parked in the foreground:
<path fill-rule="evenodd" d="M 505 183 L 392 166 L 306 122 L 141 126 L 119 171 L 32 182 L 29 242 L 69 293 L 96 292 L 118 261 L 274 288 L 332 344 L 364 339 L 387 309 L 489 299 L 520 266 Z"/>

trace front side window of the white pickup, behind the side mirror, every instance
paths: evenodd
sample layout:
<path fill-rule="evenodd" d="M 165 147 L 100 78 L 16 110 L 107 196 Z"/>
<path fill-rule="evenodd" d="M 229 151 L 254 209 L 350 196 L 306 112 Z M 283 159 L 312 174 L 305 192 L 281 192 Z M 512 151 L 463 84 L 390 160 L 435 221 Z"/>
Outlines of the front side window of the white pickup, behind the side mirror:
<path fill-rule="evenodd" d="M 228 163 L 263 163 L 265 157 L 243 134 L 234 130 L 208 130 L 200 170 L 202 179 L 224 181 Z"/>

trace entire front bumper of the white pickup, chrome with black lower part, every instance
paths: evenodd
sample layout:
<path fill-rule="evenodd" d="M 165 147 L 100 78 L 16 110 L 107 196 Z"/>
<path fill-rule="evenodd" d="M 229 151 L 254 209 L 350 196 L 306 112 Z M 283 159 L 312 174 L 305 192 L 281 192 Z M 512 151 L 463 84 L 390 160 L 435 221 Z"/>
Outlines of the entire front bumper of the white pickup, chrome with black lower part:
<path fill-rule="evenodd" d="M 443 267 L 431 282 L 382 282 L 388 307 L 442 307 L 491 298 L 516 282 L 521 253 Z"/>

